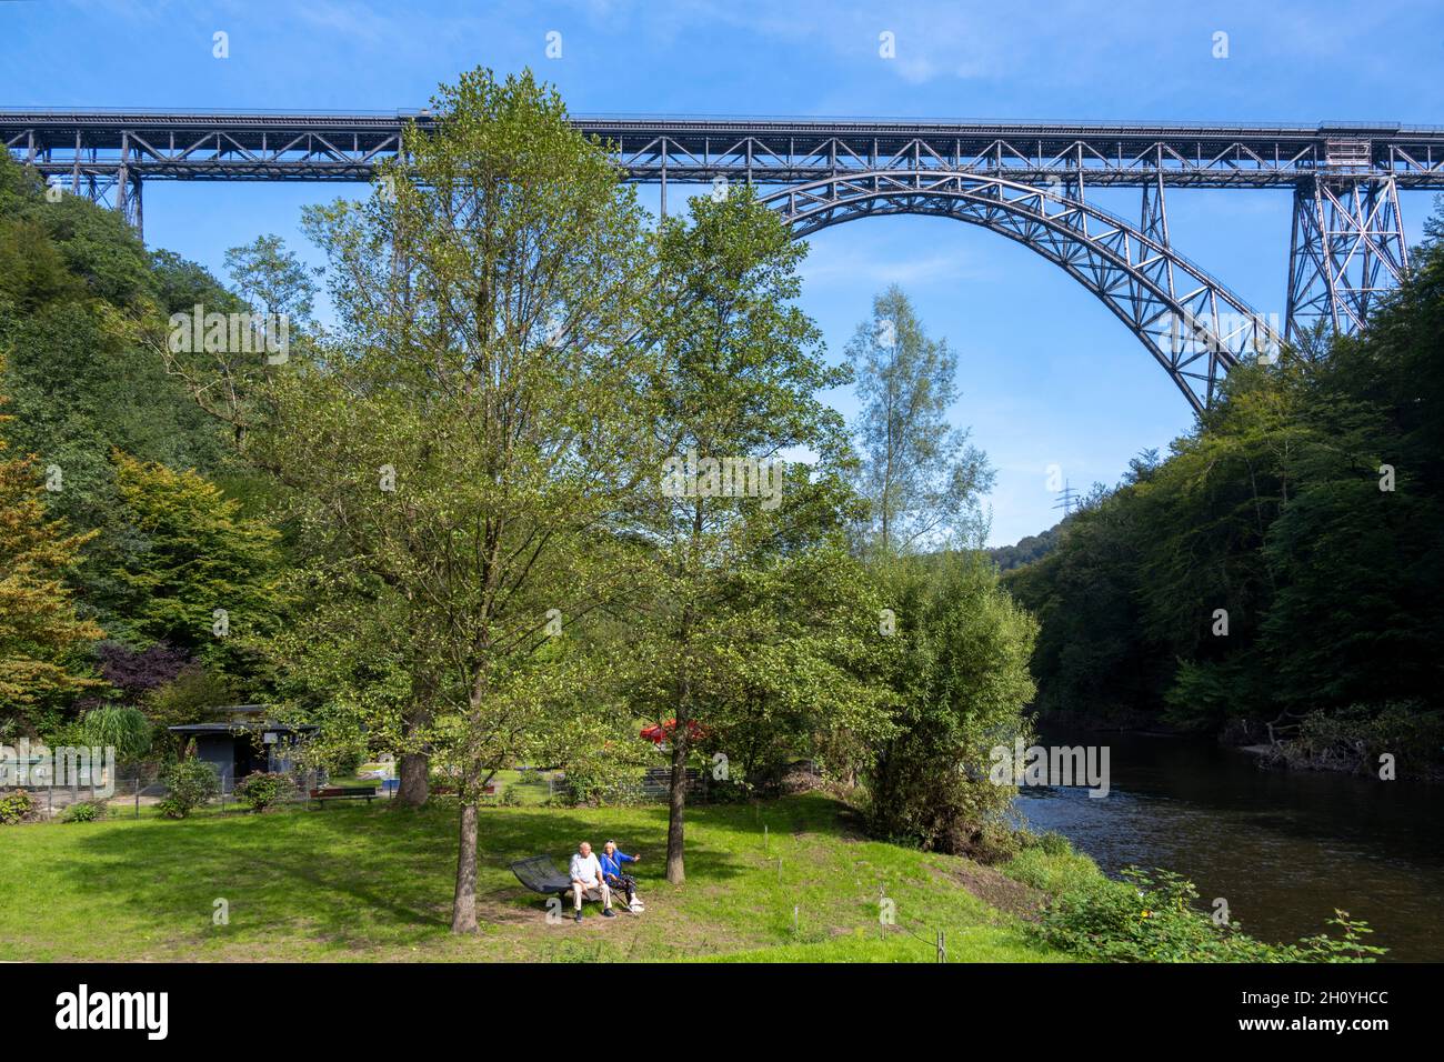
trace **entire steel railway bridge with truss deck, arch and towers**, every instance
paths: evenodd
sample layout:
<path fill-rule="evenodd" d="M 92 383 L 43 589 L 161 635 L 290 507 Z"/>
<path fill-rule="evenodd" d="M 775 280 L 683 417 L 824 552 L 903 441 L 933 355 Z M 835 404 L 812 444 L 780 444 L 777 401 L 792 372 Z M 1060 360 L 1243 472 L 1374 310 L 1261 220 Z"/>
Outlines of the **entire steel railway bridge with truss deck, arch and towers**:
<path fill-rule="evenodd" d="M 149 181 L 371 181 L 401 147 L 387 114 L 0 111 L 0 140 L 52 186 L 142 225 Z M 1444 127 L 578 117 L 627 178 L 745 182 L 804 237 L 933 214 L 1032 249 L 1096 295 L 1194 409 L 1223 373 L 1320 321 L 1359 331 L 1408 267 L 1398 191 L 1444 189 Z M 1139 191 L 1135 217 L 1090 189 Z M 1168 237 L 1168 188 L 1289 188 L 1287 312 L 1262 315 Z M 1279 334 L 1282 332 L 1282 335 Z"/>

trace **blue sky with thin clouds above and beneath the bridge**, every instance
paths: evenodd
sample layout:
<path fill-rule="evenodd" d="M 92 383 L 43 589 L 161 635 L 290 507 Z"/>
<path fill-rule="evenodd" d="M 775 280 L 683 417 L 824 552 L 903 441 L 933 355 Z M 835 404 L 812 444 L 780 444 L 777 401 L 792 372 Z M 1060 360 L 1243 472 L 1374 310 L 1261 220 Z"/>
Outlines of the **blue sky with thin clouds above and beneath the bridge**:
<path fill-rule="evenodd" d="M 230 58 L 212 56 L 212 33 Z M 562 33 L 562 58 L 546 35 Z M 897 58 L 878 55 L 892 32 Z M 1213 35 L 1229 58 L 1213 58 Z M 488 65 L 533 66 L 576 113 L 1444 124 L 1444 7 L 1357 3 L 52 3 L 0 1 L 0 105 L 396 110 Z M 146 186 L 146 238 L 217 275 L 277 233 L 306 251 L 319 185 Z M 656 195 L 644 195 L 656 205 Z M 1136 214 L 1132 195 L 1100 205 Z M 1432 202 L 1402 201 L 1411 240 Z M 1289 199 L 1174 192 L 1174 244 L 1284 312 Z M 1057 519 L 1047 468 L 1115 483 L 1191 415 L 1123 327 L 1031 251 L 937 218 L 812 238 L 803 306 L 840 358 L 900 283 L 957 351 L 954 423 L 992 457 L 993 543 Z M 830 396 L 855 412 L 848 393 Z"/>

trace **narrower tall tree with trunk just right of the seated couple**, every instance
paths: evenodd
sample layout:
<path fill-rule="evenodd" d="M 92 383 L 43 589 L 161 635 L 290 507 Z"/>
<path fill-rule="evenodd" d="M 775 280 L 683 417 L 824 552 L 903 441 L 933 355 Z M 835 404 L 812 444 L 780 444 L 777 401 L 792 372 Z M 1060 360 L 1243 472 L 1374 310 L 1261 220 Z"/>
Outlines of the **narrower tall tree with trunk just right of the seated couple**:
<path fill-rule="evenodd" d="M 800 616 L 826 642 L 845 637 L 838 631 L 855 604 L 825 601 L 839 574 L 823 561 L 845 558 L 823 551 L 838 543 L 849 494 L 843 426 L 817 392 L 846 376 L 823 364 L 817 329 L 794 305 L 804 249 L 747 191 L 695 198 L 687 217 L 663 224 L 660 246 L 666 380 L 656 441 L 671 464 L 644 516 L 657 584 L 641 627 L 650 650 L 643 701 L 676 718 L 667 880 L 680 883 L 695 724 L 736 711 L 744 691 L 754 709 L 809 696 L 838 704 L 848 688 L 842 646 L 804 639 L 790 647 L 817 650 L 813 665 L 781 660 Z M 786 458 L 803 451 L 816 467 L 787 468 Z M 768 470 L 767 488 L 739 484 L 739 462 Z M 810 584 L 819 594 L 804 588 L 788 603 L 809 565 L 819 568 Z M 770 634 L 757 637 L 761 630 Z M 768 656 L 778 669 L 758 682 Z"/>

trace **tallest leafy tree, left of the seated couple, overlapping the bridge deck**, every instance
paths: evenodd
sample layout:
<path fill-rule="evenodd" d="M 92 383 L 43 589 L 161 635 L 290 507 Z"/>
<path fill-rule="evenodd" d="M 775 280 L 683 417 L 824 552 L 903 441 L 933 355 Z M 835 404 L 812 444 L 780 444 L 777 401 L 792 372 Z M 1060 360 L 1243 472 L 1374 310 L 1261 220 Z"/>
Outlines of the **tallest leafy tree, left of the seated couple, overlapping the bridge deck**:
<path fill-rule="evenodd" d="M 371 201 L 308 217 L 341 329 L 277 377 L 248 452 L 316 581 L 360 585 L 315 607 L 393 621 L 404 750 L 458 782 L 452 929 L 471 932 L 482 789 L 579 718 L 566 630 L 628 585 L 651 257 L 621 173 L 530 74 L 465 74 L 433 110 Z"/>

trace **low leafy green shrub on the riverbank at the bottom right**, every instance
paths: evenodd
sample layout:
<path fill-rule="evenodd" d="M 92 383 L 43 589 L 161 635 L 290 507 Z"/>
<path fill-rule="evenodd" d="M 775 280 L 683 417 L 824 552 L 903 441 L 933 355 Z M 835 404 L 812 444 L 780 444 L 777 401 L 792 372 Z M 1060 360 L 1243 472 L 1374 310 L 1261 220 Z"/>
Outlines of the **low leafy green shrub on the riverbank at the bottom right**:
<path fill-rule="evenodd" d="M 1063 951 L 1105 962 L 1373 962 L 1385 949 L 1363 944 L 1366 923 L 1336 912 L 1343 929 L 1298 944 L 1272 945 L 1219 923 L 1194 906 L 1199 890 L 1167 870 L 1123 870 L 1123 881 L 1099 877 L 1058 896 L 1037 929 Z"/>

